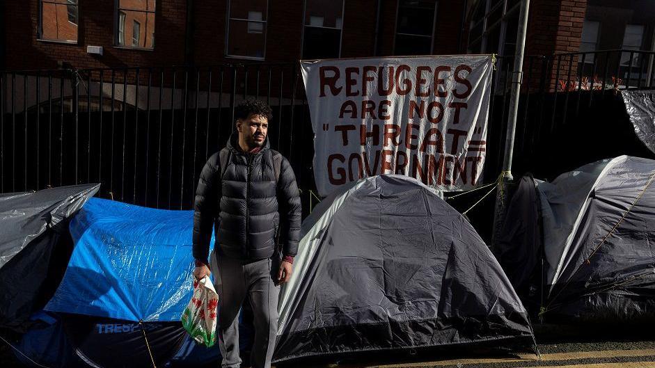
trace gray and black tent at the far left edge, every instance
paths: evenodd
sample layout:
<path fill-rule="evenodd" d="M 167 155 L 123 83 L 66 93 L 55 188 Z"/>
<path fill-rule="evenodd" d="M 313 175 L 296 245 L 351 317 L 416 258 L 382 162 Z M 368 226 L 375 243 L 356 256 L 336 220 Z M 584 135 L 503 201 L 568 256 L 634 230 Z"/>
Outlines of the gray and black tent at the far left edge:
<path fill-rule="evenodd" d="M 72 251 L 70 218 L 99 188 L 0 194 L 0 328 L 24 332 L 54 294 Z"/>

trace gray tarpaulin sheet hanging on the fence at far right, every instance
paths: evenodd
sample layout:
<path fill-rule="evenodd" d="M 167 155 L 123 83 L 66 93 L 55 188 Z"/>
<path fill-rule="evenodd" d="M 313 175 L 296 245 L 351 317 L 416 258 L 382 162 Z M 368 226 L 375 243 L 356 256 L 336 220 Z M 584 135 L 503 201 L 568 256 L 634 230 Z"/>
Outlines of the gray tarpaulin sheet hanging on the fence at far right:
<path fill-rule="evenodd" d="M 622 90 L 621 96 L 635 133 L 649 150 L 655 152 L 655 91 Z"/>

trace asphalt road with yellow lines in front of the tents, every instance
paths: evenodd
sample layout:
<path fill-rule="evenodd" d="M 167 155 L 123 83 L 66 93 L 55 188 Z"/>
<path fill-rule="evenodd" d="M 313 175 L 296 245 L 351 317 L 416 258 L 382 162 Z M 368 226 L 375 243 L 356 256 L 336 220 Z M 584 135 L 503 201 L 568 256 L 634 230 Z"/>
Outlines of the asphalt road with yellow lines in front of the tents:
<path fill-rule="evenodd" d="M 278 365 L 278 368 L 655 368 L 655 326 L 536 325 L 535 337 L 540 358 L 530 349 L 469 346 L 438 351 L 351 354 L 299 360 Z M 0 367 L 23 367 L 3 343 L 0 346 Z"/>

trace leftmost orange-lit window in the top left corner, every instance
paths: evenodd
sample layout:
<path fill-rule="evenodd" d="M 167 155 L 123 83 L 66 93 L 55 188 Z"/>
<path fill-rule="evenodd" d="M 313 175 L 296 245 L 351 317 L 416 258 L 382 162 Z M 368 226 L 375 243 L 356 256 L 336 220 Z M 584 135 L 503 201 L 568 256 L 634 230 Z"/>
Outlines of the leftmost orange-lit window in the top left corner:
<path fill-rule="evenodd" d="M 41 0 L 40 40 L 77 43 L 77 0 Z"/>

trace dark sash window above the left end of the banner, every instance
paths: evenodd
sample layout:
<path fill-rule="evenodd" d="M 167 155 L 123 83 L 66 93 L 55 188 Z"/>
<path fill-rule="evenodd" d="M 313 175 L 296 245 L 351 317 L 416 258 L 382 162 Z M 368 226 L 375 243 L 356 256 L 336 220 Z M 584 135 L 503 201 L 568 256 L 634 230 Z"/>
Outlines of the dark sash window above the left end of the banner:
<path fill-rule="evenodd" d="M 338 0 L 305 1 L 303 58 L 340 57 L 343 4 Z"/>

